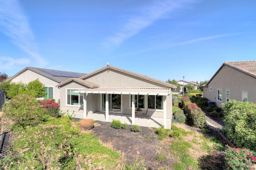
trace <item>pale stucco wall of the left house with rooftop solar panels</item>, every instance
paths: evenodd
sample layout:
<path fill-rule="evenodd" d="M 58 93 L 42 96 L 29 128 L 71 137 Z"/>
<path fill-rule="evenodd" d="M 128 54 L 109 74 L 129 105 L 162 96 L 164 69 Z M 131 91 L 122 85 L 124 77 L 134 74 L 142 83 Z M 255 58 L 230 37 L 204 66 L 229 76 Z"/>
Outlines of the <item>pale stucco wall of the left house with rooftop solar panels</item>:
<path fill-rule="evenodd" d="M 53 97 L 56 102 L 60 99 L 60 89 L 56 88 L 55 86 L 59 84 L 58 82 L 51 80 L 41 74 L 38 74 L 32 70 L 24 70 L 14 78 L 12 78 L 12 82 L 22 82 L 28 84 L 36 79 L 39 79 L 40 82 L 44 84 L 46 87 L 53 87 Z"/>

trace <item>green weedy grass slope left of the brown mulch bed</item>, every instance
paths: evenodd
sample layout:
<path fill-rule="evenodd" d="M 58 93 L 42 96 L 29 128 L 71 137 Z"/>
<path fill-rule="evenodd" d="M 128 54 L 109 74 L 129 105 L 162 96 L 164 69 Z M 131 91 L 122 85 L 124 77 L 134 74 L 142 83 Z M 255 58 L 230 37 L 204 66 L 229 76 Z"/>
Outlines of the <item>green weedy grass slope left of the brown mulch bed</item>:
<path fill-rule="evenodd" d="M 102 146 L 93 135 L 81 133 L 69 117 L 50 118 L 16 133 L 20 137 L 0 162 L 9 169 L 115 169 L 122 162 L 120 153 Z"/>

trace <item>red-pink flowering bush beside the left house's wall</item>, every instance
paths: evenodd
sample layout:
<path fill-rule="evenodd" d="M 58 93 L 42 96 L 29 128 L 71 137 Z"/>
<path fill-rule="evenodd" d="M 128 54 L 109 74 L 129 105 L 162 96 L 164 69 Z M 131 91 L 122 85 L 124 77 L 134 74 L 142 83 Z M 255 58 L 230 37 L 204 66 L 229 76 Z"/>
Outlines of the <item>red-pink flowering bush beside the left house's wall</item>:
<path fill-rule="evenodd" d="M 39 102 L 39 104 L 41 106 L 43 106 L 44 109 L 46 109 L 46 111 L 45 111 L 46 115 L 50 115 L 52 117 L 58 117 L 58 115 L 59 115 L 59 107 L 60 107 L 59 104 L 57 104 L 56 102 L 54 102 L 54 101 L 52 101 L 50 99 L 48 99 L 48 100 L 41 100 Z"/>

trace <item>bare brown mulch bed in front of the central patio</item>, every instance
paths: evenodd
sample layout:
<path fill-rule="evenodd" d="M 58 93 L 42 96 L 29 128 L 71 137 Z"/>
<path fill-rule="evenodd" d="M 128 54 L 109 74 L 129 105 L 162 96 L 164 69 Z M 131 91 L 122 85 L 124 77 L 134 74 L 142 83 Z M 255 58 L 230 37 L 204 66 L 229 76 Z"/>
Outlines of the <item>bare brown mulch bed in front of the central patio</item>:
<path fill-rule="evenodd" d="M 99 137 L 103 143 L 109 143 L 114 150 L 122 152 L 125 164 L 133 164 L 133 160 L 139 156 L 144 159 L 148 170 L 159 168 L 157 155 L 162 144 L 154 129 L 141 127 L 141 132 L 132 132 L 132 125 L 128 125 L 127 129 L 114 129 L 110 122 L 95 121 L 95 124 L 92 135 Z"/>

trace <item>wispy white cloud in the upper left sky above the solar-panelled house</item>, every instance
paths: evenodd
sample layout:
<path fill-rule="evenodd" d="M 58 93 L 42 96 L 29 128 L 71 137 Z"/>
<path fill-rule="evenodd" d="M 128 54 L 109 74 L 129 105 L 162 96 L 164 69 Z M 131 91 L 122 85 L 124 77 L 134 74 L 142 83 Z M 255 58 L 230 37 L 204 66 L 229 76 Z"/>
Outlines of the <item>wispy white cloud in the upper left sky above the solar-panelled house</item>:
<path fill-rule="evenodd" d="M 38 47 L 34 40 L 33 32 L 29 26 L 28 19 L 18 0 L 4 0 L 0 2 L 0 24 L 3 33 L 9 37 L 15 45 L 30 56 L 30 59 L 11 59 L 10 57 L 0 58 L 2 65 L 15 68 L 16 64 L 31 64 L 45 66 L 46 61 L 38 53 Z M 12 61 L 14 64 L 10 64 Z M 20 61 L 22 61 L 20 63 Z"/>

